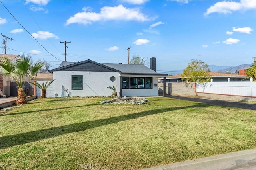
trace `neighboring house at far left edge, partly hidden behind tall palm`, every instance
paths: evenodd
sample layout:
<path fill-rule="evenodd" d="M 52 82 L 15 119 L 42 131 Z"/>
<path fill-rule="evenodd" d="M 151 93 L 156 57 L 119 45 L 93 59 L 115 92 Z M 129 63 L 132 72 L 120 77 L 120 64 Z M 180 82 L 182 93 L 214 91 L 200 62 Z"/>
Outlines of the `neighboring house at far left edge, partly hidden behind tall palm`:
<path fill-rule="evenodd" d="M 20 55 L 12 55 L 12 54 L 0 54 L 0 59 L 3 57 L 7 57 L 9 60 L 14 61 L 20 57 Z M 0 73 L 0 96 L 6 95 L 11 96 L 11 79 L 10 77 L 4 77 L 2 73 Z M 17 91 L 17 90 L 16 90 Z"/>

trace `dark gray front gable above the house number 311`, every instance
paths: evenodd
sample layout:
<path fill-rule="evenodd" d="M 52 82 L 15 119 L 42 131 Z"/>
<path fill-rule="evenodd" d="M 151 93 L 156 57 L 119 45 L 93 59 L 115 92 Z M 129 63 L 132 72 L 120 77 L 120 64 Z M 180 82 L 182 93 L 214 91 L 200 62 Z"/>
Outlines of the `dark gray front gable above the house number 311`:
<path fill-rule="evenodd" d="M 82 62 L 78 63 L 73 63 L 73 62 L 66 62 L 61 65 L 64 66 L 59 66 L 56 69 L 49 70 L 49 72 L 54 72 L 54 71 L 94 71 L 94 72 L 120 72 L 119 70 L 110 68 L 106 65 L 97 63 L 92 60 L 85 60 Z"/>

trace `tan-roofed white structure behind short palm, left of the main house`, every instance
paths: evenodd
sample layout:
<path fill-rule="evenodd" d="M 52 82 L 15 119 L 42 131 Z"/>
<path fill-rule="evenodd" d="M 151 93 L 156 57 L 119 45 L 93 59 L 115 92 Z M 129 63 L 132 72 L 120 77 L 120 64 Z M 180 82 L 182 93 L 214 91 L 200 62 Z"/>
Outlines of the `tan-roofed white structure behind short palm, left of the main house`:
<path fill-rule="evenodd" d="M 52 73 L 37 73 L 36 78 L 32 79 L 30 82 L 36 81 L 37 83 L 42 85 L 43 83 L 46 84 L 46 82 L 50 82 L 51 80 L 53 80 Z M 32 84 L 30 84 L 30 86 L 31 85 Z M 40 88 L 36 87 L 36 97 L 38 98 L 41 95 L 42 95 L 42 90 Z M 47 98 L 55 97 L 53 94 L 53 85 L 52 84 L 46 89 L 46 97 Z"/>

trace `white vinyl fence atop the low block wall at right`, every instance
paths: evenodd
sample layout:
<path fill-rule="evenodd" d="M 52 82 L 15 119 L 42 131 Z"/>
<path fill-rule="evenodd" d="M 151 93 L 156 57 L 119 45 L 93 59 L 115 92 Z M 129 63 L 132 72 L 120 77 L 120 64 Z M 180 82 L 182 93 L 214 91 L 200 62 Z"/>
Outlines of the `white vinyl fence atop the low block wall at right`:
<path fill-rule="evenodd" d="M 238 96 L 256 96 L 256 82 L 206 82 L 196 85 L 196 92 L 229 94 Z"/>

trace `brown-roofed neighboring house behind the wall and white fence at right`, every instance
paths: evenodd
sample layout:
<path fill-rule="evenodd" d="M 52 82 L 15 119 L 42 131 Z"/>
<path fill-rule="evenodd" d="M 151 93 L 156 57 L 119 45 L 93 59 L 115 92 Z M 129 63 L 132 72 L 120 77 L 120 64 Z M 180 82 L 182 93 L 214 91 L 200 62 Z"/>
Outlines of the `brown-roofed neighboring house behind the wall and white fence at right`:
<path fill-rule="evenodd" d="M 228 78 L 230 81 L 246 81 L 247 76 L 238 74 L 226 74 L 221 72 L 209 72 L 210 78 L 214 82 L 227 82 Z M 164 78 L 158 78 L 158 82 L 164 82 Z M 181 74 L 166 77 L 166 82 L 182 82 Z"/>

